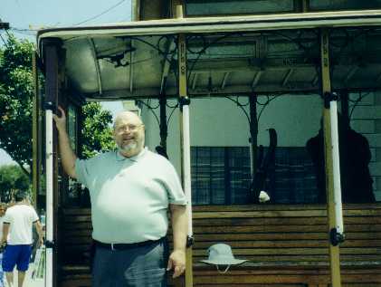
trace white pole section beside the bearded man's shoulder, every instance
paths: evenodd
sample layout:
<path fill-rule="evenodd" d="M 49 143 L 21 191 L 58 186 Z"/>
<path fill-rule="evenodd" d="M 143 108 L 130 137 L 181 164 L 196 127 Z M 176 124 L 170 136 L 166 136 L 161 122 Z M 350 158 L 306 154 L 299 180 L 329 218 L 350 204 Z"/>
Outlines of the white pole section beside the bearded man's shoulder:
<path fill-rule="evenodd" d="M 184 192 L 186 193 L 186 210 L 188 215 L 188 236 L 193 237 L 192 226 L 192 189 L 190 171 L 190 131 L 189 131 L 189 105 L 183 106 L 183 171 L 184 171 Z"/>

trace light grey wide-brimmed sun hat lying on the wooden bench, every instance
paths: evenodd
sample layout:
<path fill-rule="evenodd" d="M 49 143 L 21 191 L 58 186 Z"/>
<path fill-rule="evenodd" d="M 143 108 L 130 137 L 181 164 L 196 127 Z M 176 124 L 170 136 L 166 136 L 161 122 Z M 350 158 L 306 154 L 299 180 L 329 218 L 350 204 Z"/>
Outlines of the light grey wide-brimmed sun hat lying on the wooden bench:
<path fill-rule="evenodd" d="M 232 248 L 228 244 L 213 244 L 208 248 L 208 259 L 201 260 L 203 263 L 214 265 L 237 265 L 248 260 L 235 259 Z"/>

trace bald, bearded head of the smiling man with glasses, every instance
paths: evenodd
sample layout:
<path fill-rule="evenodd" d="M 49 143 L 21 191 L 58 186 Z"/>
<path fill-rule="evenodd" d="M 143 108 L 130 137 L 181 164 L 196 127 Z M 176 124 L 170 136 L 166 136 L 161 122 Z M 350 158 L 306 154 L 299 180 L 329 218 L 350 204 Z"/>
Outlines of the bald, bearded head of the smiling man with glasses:
<path fill-rule="evenodd" d="M 144 148 L 144 125 L 133 112 L 117 116 L 113 135 L 120 153 L 127 158 L 138 155 Z"/>

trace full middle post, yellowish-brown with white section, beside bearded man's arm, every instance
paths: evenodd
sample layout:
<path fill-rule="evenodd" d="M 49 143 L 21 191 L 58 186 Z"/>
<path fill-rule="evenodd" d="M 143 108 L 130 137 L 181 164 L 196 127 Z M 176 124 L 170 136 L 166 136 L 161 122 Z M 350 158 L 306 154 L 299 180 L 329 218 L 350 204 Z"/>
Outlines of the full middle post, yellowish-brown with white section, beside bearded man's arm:
<path fill-rule="evenodd" d="M 178 95 L 180 102 L 181 179 L 186 193 L 188 215 L 188 240 L 186 244 L 186 287 L 193 286 L 193 226 L 192 191 L 190 172 L 189 103 L 186 83 L 186 35 L 178 35 Z"/>

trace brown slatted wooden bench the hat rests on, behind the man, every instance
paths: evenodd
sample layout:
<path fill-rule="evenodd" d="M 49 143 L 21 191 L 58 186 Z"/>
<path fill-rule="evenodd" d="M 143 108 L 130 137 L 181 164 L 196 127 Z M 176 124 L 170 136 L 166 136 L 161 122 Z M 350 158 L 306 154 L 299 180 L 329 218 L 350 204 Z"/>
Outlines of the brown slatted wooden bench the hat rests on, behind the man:
<path fill-rule="evenodd" d="M 194 286 L 328 286 L 326 214 L 317 205 L 194 206 Z M 90 286 L 90 210 L 65 209 L 62 215 L 59 286 Z M 345 205 L 344 223 L 343 286 L 381 286 L 381 205 Z M 200 262 L 216 243 L 230 244 L 236 258 L 250 261 L 218 273 Z M 172 284 L 184 286 L 182 280 Z"/>

